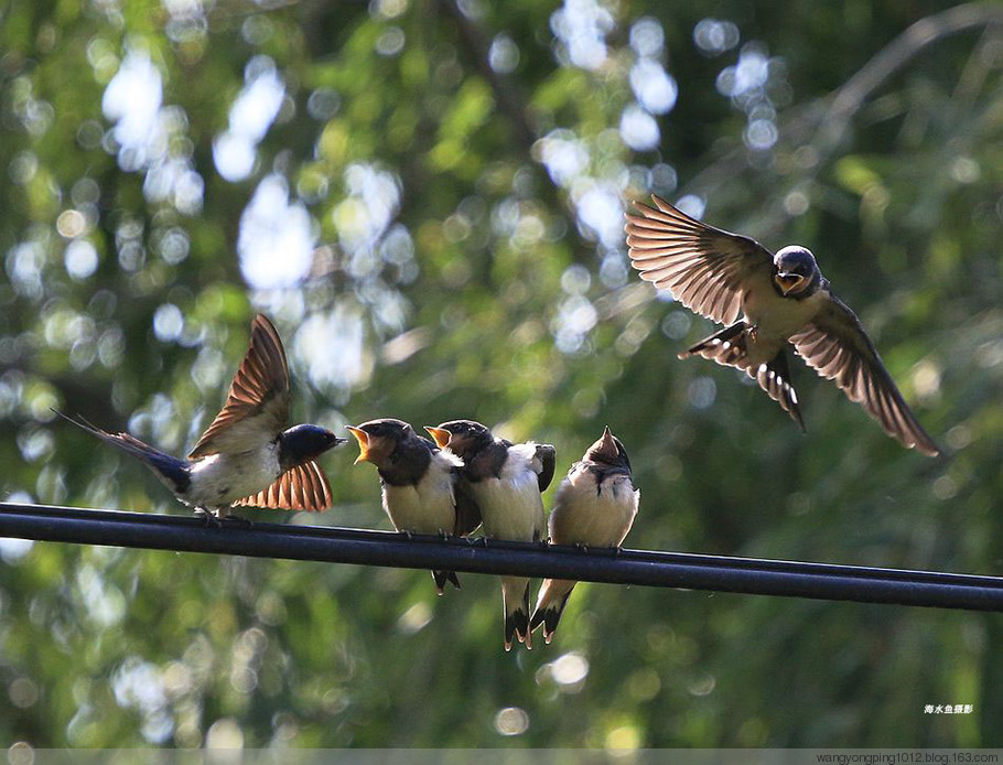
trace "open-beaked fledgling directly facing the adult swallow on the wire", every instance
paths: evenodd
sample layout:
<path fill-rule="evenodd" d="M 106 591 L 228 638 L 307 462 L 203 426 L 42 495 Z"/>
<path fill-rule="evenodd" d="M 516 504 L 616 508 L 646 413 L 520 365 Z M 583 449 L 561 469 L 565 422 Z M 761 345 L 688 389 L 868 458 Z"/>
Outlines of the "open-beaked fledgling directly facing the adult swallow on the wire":
<path fill-rule="evenodd" d="M 466 537 L 481 525 L 477 506 L 457 487 L 463 460 L 449 449 L 390 418 L 348 430 L 358 441 L 355 463 L 376 465 L 384 510 L 396 530 Z M 454 571 L 433 571 L 432 579 L 440 595 L 446 582 L 460 589 Z"/>

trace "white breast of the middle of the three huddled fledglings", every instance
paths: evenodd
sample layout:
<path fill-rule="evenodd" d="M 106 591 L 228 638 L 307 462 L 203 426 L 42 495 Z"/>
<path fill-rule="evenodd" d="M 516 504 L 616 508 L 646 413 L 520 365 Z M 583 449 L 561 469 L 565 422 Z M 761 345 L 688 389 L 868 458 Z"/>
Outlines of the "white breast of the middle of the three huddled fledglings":
<path fill-rule="evenodd" d="M 535 444 L 510 446 L 499 477 L 472 484 L 487 537 L 530 542 L 543 536 L 543 499 L 535 457 Z"/>

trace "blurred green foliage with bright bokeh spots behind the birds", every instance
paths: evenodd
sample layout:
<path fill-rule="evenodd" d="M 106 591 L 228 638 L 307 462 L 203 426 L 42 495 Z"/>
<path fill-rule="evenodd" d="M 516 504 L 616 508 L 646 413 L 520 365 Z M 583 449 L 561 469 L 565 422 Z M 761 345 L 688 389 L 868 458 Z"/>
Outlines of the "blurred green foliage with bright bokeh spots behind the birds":
<path fill-rule="evenodd" d="M 473 417 L 554 443 L 559 470 L 610 423 L 643 491 L 632 547 L 1000 574 L 993 19 L 9 0 L 2 496 L 184 511 L 48 408 L 181 453 L 263 310 L 299 421 Z M 623 208 L 651 191 L 808 245 L 949 456 L 804 367 L 806 435 L 732 370 L 677 362 L 710 327 L 628 273 Z M 336 507 L 291 522 L 387 526 L 350 452 L 325 457 Z M 0 554 L 6 742 L 1003 745 L 997 615 L 582 585 L 551 646 L 505 655 L 493 578 L 436 599 L 419 571 Z M 924 713 L 948 703 L 974 709 Z"/>

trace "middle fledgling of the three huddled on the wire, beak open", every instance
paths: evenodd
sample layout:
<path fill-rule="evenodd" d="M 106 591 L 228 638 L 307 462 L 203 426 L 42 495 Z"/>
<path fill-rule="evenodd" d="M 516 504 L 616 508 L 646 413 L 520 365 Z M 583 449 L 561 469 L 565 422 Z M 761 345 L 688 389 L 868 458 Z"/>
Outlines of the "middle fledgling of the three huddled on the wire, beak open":
<path fill-rule="evenodd" d="M 532 441 L 514 444 L 473 420 L 451 420 L 429 432 L 464 463 L 463 477 L 481 510 L 487 539 L 538 542 L 543 537 L 543 499 L 553 480 L 556 452 Z M 532 647 L 529 578 L 502 577 L 505 650 L 513 636 Z"/>

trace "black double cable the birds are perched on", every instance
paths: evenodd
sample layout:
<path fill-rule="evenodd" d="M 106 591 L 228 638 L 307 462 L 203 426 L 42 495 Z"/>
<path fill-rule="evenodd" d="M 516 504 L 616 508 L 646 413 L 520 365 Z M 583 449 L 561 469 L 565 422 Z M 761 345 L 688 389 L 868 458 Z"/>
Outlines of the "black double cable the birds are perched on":
<path fill-rule="evenodd" d="M 1003 577 L 645 550 L 576 550 L 390 531 L 0 503 L 0 537 L 331 563 L 1003 612 Z"/>

